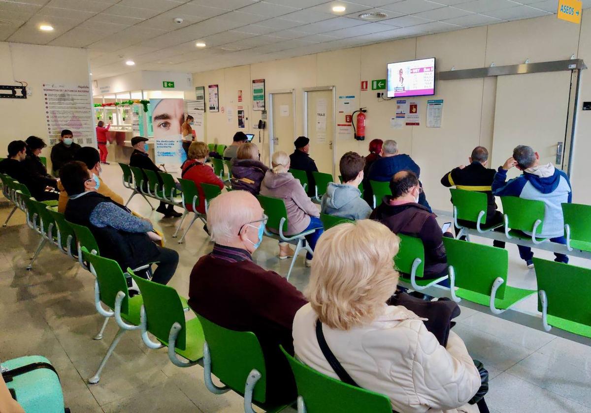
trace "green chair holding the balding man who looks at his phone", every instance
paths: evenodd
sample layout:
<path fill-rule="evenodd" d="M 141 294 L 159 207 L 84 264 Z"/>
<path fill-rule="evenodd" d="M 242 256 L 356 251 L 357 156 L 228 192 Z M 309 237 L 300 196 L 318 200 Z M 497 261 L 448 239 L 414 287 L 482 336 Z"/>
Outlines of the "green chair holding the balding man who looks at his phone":
<path fill-rule="evenodd" d="M 394 258 L 394 263 L 400 271 L 400 281 L 411 284 L 416 291 L 421 291 L 447 279 L 447 276 L 444 276 L 424 280 L 425 248 L 423 241 L 410 235 L 397 235 L 400 237 L 400 248 Z"/>

